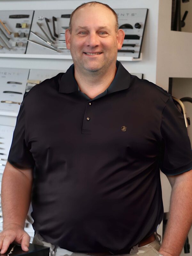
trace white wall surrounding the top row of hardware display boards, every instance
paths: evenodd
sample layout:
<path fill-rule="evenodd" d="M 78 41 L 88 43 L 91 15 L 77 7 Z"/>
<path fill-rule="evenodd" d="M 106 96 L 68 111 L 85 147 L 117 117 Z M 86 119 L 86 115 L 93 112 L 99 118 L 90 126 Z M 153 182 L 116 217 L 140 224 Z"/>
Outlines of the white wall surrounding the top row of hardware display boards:
<path fill-rule="evenodd" d="M 78 5 L 89 2 L 88 0 L 33 0 L 33 1 L 0 1 L 0 10 L 56 10 L 75 9 Z M 142 46 L 143 60 L 125 62 L 122 64 L 132 73 L 143 73 L 144 78 L 156 82 L 156 53 L 157 53 L 157 26 L 159 0 L 105 0 L 112 8 L 148 8 L 147 26 Z M 72 60 L 43 60 L 43 59 L 10 59 L 0 58 L 0 67 L 9 68 L 44 68 L 66 69 Z"/>

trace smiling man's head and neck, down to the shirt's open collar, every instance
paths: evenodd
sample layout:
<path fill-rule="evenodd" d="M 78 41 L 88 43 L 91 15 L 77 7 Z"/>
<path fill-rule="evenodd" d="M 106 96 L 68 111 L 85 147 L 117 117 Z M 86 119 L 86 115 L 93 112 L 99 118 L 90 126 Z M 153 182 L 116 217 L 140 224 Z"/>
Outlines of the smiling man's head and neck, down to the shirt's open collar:
<path fill-rule="evenodd" d="M 71 15 L 65 32 L 75 79 L 90 98 L 104 92 L 116 74 L 117 50 L 122 47 L 124 31 L 118 29 L 113 12 L 103 4 L 85 4 Z"/>

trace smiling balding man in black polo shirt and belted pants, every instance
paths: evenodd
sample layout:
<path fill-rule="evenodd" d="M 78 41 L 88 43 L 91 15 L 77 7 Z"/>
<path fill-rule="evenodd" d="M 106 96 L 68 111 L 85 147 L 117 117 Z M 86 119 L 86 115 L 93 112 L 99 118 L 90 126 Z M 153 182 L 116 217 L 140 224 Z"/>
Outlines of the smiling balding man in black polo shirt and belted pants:
<path fill-rule="evenodd" d="M 24 97 L 2 181 L 1 253 L 13 241 L 28 250 L 33 184 L 34 243 L 56 256 L 180 254 L 192 221 L 185 122 L 170 94 L 116 62 L 123 40 L 109 6 L 78 7 L 66 30 L 74 66 Z M 159 167 L 172 186 L 161 247 Z"/>

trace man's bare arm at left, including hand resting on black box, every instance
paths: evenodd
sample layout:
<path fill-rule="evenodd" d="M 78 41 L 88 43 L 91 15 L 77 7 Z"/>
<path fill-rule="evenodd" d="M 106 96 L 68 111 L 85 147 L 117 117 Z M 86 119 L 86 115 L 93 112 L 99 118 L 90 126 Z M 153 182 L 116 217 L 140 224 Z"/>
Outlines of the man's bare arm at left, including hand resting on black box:
<path fill-rule="evenodd" d="M 7 162 L 1 188 L 3 228 L 0 233 L 0 253 L 5 253 L 14 241 L 28 251 L 30 236 L 24 231 L 31 202 L 33 170 L 20 170 Z"/>

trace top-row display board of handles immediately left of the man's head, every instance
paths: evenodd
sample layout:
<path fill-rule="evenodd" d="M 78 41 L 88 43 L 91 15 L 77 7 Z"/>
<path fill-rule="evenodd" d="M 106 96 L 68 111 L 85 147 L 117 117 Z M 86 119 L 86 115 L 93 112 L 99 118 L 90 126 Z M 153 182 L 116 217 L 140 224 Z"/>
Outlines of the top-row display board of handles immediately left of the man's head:
<path fill-rule="evenodd" d="M 26 53 L 71 55 L 65 44 L 65 29 L 69 26 L 72 11 L 35 11 Z"/>

